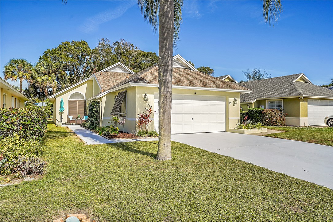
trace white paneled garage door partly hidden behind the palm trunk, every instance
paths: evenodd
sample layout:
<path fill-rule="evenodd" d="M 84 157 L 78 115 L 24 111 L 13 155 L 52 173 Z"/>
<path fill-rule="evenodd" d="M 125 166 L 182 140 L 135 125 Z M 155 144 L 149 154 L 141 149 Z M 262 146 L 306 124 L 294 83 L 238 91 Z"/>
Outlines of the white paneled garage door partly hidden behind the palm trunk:
<path fill-rule="evenodd" d="M 155 94 L 155 130 L 159 129 L 159 100 Z M 225 131 L 225 97 L 172 94 L 171 133 Z"/>

